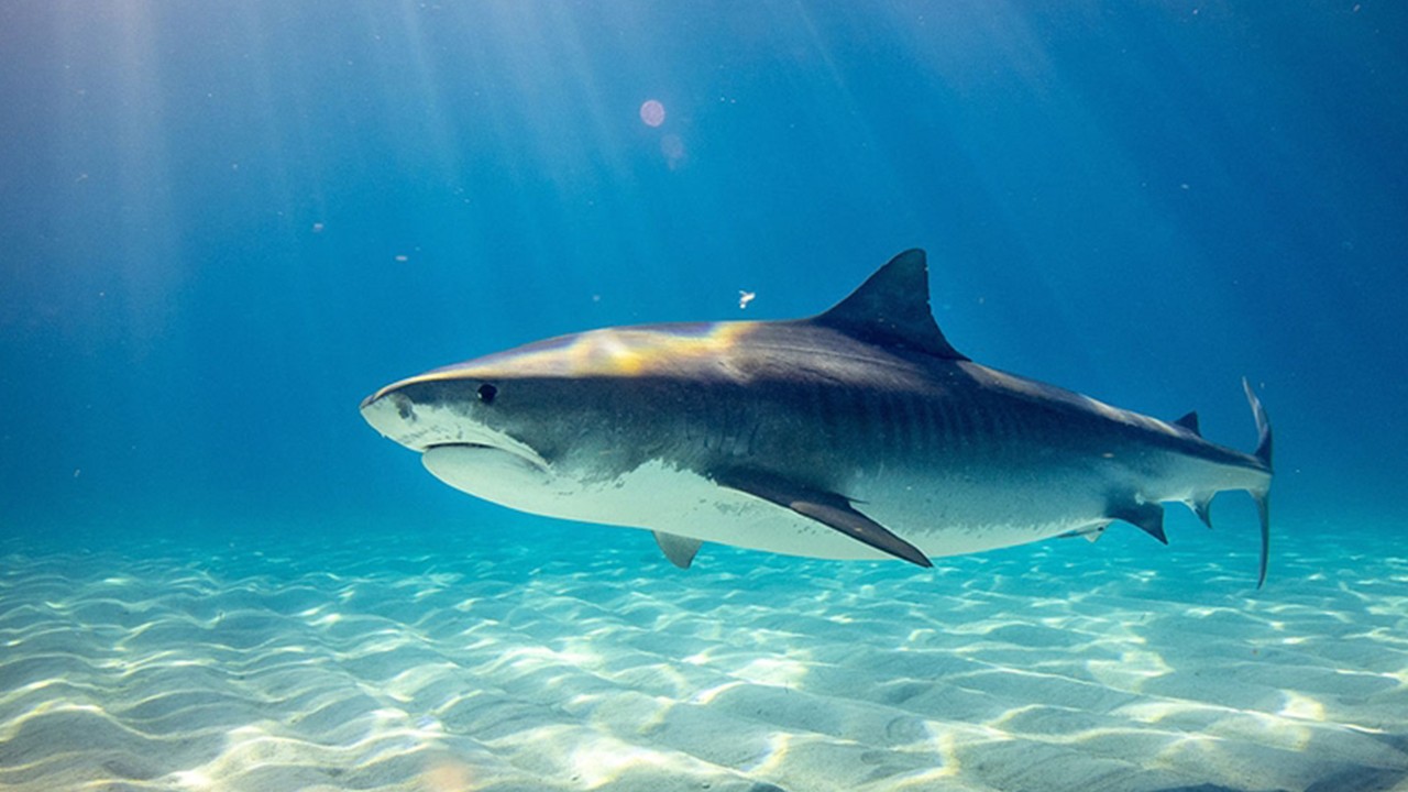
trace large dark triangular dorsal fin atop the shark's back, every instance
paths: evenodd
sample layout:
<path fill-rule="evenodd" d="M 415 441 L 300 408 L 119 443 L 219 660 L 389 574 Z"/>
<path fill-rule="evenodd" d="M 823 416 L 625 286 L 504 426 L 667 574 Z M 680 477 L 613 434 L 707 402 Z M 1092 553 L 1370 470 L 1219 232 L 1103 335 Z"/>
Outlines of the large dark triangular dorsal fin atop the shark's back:
<path fill-rule="evenodd" d="M 915 248 L 890 259 L 849 297 L 810 321 L 869 344 L 966 361 L 949 345 L 929 310 L 929 265 Z"/>

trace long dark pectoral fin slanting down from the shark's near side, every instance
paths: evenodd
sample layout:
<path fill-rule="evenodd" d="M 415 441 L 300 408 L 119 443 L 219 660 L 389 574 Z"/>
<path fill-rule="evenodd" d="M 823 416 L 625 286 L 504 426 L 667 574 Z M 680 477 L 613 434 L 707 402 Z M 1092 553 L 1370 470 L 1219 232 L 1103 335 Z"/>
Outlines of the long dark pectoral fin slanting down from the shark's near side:
<path fill-rule="evenodd" d="M 758 471 L 724 471 L 715 474 L 714 481 L 719 486 L 746 492 L 783 509 L 817 520 L 818 523 L 846 534 L 848 537 L 869 544 L 870 547 L 888 552 L 895 558 L 903 558 L 919 567 L 934 567 L 919 548 L 890 533 L 880 523 L 856 512 L 850 500 L 835 492 L 817 490 L 781 476 Z"/>

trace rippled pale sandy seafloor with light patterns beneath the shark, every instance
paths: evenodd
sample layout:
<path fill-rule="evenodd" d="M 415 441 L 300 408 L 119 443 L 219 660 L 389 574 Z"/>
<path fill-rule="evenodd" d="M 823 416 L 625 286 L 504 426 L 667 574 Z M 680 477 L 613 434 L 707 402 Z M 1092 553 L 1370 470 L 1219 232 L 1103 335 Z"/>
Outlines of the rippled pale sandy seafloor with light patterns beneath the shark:
<path fill-rule="evenodd" d="M 1255 528 L 1197 531 L 0 540 L 0 788 L 1408 789 L 1404 545 L 1278 526 L 1257 592 Z"/>

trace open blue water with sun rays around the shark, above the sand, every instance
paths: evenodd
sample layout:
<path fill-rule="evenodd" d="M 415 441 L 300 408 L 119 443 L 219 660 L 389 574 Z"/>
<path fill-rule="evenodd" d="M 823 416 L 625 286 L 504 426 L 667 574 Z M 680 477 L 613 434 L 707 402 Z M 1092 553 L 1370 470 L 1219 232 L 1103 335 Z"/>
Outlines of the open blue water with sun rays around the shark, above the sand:
<path fill-rule="evenodd" d="M 811 314 L 924 247 L 980 362 L 1245 450 L 1249 376 L 1278 536 L 1401 557 L 1405 85 L 1408 13 L 1371 0 L 0 4 L 0 531 L 645 558 L 445 488 L 359 400 Z"/>

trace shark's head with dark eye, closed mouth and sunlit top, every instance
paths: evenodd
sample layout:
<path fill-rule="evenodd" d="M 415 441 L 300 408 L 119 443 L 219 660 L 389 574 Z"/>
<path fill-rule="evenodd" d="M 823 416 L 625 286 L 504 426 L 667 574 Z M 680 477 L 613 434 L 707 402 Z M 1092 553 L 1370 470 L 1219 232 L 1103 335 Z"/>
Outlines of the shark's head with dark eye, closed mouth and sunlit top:
<path fill-rule="evenodd" d="M 584 489 L 667 454 L 659 404 L 749 323 L 608 328 L 538 341 L 389 385 L 362 417 L 445 483 L 504 506 L 584 519 Z M 693 372 L 697 373 L 697 372 Z"/>

